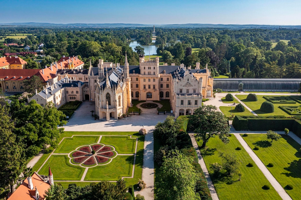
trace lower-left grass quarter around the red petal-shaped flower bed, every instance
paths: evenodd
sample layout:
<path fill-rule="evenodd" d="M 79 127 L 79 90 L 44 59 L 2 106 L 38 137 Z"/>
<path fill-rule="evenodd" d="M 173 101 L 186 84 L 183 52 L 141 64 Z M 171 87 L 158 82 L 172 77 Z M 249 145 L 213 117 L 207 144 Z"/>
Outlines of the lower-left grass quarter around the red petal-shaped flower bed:
<path fill-rule="evenodd" d="M 47 161 L 51 167 L 54 180 L 79 181 L 85 171 L 84 167 L 70 164 L 67 155 L 52 155 Z M 48 175 L 48 162 L 38 171 L 39 174 Z"/>

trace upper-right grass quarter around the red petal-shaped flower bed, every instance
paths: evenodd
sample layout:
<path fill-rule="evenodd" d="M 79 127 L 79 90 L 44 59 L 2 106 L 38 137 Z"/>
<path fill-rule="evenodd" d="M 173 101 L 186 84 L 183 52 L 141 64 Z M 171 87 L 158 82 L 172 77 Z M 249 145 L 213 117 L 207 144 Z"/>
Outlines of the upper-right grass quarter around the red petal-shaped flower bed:
<path fill-rule="evenodd" d="M 118 154 L 135 153 L 136 139 L 132 139 L 129 136 L 102 136 L 100 143 L 112 145 Z"/>

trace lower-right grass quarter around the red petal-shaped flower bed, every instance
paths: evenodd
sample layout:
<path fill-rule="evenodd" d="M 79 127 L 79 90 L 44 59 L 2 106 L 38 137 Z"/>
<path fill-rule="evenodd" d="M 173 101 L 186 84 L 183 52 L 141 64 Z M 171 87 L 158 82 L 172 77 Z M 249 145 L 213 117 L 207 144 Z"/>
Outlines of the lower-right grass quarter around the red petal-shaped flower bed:
<path fill-rule="evenodd" d="M 90 167 L 85 181 L 117 181 L 123 176 L 132 176 L 134 156 L 117 156 L 111 163 Z"/>

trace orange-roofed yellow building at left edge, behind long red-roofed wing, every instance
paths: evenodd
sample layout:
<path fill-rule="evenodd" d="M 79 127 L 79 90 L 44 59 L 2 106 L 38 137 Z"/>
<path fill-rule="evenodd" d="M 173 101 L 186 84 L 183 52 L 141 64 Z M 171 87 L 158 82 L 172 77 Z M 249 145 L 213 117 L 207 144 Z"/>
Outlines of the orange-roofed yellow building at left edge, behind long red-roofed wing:
<path fill-rule="evenodd" d="M 18 56 L 0 58 L 0 69 L 24 69 L 27 62 Z"/>

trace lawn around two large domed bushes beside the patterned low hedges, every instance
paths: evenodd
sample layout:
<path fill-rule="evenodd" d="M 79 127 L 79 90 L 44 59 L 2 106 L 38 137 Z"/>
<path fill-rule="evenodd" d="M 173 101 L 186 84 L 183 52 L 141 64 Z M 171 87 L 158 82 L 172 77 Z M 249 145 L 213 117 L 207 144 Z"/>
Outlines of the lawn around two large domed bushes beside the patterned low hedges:
<path fill-rule="evenodd" d="M 245 103 L 245 105 L 247 105 L 250 109 L 252 109 L 256 114 L 258 115 L 284 115 L 284 116 L 291 116 L 288 113 L 286 113 L 285 111 L 283 111 L 282 109 L 279 108 L 279 106 L 292 106 L 291 103 L 281 103 L 281 104 L 273 104 L 274 105 L 274 112 L 272 113 L 266 113 L 266 112 L 262 112 L 260 111 L 260 106 L 263 102 L 266 101 L 265 98 L 263 98 L 264 95 L 257 95 L 258 101 L 256 102 L 250 102 L 248 100 L 246 100 L 247 95 L 236 95 L 237 98 L 239 98 L 242 102 Z M 294 104 L 294 106 L 298 106 L 300 105 L 299 103 Z"/>

